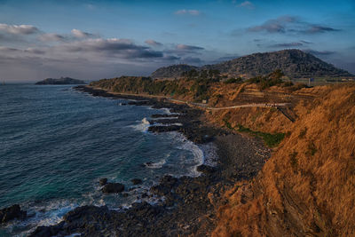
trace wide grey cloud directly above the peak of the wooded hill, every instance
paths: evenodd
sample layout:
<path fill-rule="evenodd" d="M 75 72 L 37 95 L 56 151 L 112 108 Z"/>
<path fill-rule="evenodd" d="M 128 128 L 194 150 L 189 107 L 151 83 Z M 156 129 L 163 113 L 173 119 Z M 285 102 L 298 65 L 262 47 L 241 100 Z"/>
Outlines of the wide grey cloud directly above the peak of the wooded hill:
<path fill-rule="evenodd" d="M 248 28 L 249 32 L 267 32 L 271 34 L 319 34 L 339 30 L 340 29 L 305 22 L 296 16 L 288 15 L 280 16 L 277 19 L 266 20 L 262 25 Z"/>

